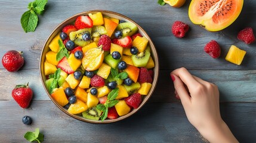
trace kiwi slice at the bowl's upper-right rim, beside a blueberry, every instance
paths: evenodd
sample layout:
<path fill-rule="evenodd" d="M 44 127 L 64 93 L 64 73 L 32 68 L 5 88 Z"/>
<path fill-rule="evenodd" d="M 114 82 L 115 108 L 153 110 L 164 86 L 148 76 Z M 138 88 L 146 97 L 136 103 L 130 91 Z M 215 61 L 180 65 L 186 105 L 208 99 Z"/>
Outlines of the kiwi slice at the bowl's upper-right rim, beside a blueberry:
<path fill-rule="evenodd" d="M 122 37 L 125 37 L 125 36 L 134 35 L 134 33 L 138 31 L 138 27 L 134 23 L 125 22 L 125 23 L 119 23 L 117 30 L 123 33 Z"/>

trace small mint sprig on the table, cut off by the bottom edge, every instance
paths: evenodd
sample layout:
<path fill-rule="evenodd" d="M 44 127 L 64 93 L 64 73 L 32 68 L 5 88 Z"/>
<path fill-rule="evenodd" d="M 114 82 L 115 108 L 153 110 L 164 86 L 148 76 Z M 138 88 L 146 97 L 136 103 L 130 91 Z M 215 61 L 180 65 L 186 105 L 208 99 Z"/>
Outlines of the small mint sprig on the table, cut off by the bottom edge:
<path fill-rule="evenodd" d="M 26 132 L 24 138 L 29 142 L 37 141 L 40 143 L 44 141 L 44 135 L 39 132 L 39 128 L 36 128 L 35 132 Z"/>

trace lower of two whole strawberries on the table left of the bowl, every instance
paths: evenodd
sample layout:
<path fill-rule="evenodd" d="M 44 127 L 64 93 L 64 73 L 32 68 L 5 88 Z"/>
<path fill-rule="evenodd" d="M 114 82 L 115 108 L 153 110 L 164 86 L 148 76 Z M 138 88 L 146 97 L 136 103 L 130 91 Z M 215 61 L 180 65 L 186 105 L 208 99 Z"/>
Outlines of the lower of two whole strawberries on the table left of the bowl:
<path fill-rule="evenodd" d="M 27 108 L 32 100 L 33 91 L 29 88 L 29 83 L 27 83 L 26 85 L 16 85 L 11 95 L 21 108 Z"/>

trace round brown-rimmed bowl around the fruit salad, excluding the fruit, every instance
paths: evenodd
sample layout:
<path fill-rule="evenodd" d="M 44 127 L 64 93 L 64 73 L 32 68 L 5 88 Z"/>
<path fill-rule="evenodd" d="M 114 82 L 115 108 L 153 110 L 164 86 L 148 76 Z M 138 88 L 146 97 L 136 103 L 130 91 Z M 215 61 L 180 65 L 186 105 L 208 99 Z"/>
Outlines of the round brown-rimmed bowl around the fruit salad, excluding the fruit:
<path fill-rule="evenodd" d="M 97 13 L 97 12 L 101 12 L 103 15 L 107 16 L 107 17 L 113 17 L 113 18 L 118 18 L 119 20 L 125 20 L 125 21 L 129 21 L 131 23 L 136 24 L 136 26 L 138 27 L 138 32 L 141 33 L 141 35 L 145 36 L 147 39 L 149 39 L 149 45 L 151 48 L 151 55 L 152 58 L 155 62 L 155 67 L 154 67 L 154 77 L 153 77 L 153 83 L 152 83 L 152 88 L 149 91 L 149 94 L 143 97 L 143 101 L 141 102 L 140 106 L 136 109 L 132 109 L 128 114 L 118 117 L 117 119 L 106 119 L 103 122 L 101 120 L 89 120 L 89 119 L 85 119 L 83 118 L 81 115 L 75 115 L 75 114 L 70 114 L 67 112 L 67 110 L 63 107 L 61 107 L 55 100 L 53 97 L 51 97 L 50 93 L 47 90 L 47 86 L 45 85 L 45 80 L 47 80 L 47 78 L 45 77 L 44 74 L 44 61 L 45 61 L 45 54 L 50 51 L 49 48 L 49 43 L 51 42 L 51 40 L 54 38 L 55 35 L 57 35 L 58 32 L 61 31 L 61 29 L 66 26 L 67 24 L 72 23 L 73 21 L 76 20 L 76 17 L 78 17 L 79 15 L 88 15 L 89 13 Z M 159 62 L 158 62 L 158 54 L 156 52 L 156 48 L 155 45 L 153 44 L 152 40 L 150 39 L 149 35 L 147 35 L 147 33 L 137 24 L 135 23 L 133 20 L 131 20 L 130 18 L 126 17 L 125 15 L 119 14 L 119 13 L 115 13 L 113 11 L 105 11 L 105 10 L 92 10 L 92 11 L 85 11 L 83 13 L 79 13 L 76 15 L 73 15 L 72 17 L 67 18 L 66 20 L 64 20 L 62 23 L 58 24 L 58 26 L 53 30 L 53 32 L 51 32 L 50 36 L 47 38 L 47 41 L 44 44 L 44 48 L 42 49 L 41 52 L 41 58 L 40 58 L 40 76 L 41 76 L 41 80 L 42 80 L 42 85 L 44 86 L 45 91 L 47 92 L 48 97 L 51 98 L 51 100 L 54 102 L 54 104 L 60 108 L 61 111 L 63 111 L 64 113 L 68 114 L 69 116 L 84 121 L 84 122 L 89 122 L 89 123 L 112 123 L 112 122 L 117 122 L 119 120 L 123 120 L 129 116 L 131 116 L 132 114 L 136 113 L 138 110 L 140 110 L 141 107 L 143 107 L 144 104 L 146 104 L 146 102 L 149 100 L 149 98 L 152 96 L 153 91 L 156 88 L 156 83 L 158 82 L 158 74 L 159 74 Z"/>

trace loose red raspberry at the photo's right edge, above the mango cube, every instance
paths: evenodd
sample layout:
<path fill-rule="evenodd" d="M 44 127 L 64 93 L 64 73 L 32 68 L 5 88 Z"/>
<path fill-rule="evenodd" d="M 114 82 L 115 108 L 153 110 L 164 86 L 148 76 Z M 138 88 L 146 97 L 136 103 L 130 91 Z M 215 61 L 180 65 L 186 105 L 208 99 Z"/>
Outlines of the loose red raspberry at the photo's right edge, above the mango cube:
<path fill-rule="evenodd" d="M 254 32 L 251 27 L 246 27 L 243 30 L 240 30 L 238 33 L 238 39 L 247 44 L 250 44 L 255 41 Z"/>

